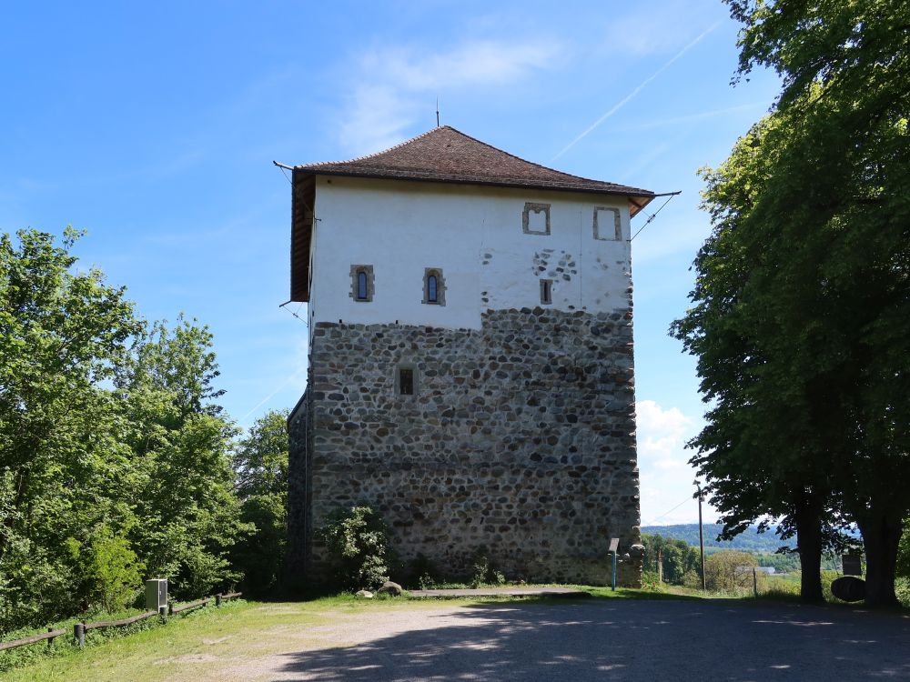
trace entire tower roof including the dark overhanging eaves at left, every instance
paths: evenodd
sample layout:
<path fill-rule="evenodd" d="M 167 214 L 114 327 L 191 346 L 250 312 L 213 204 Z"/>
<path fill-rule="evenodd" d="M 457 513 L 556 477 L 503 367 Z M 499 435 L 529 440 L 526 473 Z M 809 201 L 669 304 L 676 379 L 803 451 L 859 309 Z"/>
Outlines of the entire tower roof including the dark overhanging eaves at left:
<path fill-rule="evenodd" d="M 291 176 L 290 299 L 309 301 L 309 257 L 317 176 L 369 177 L 623 196 L 634 216 L 655 196 L 639 187 L 591 180 L 525 161 L 449 125 L 378 154 L 295 165 Z"/>

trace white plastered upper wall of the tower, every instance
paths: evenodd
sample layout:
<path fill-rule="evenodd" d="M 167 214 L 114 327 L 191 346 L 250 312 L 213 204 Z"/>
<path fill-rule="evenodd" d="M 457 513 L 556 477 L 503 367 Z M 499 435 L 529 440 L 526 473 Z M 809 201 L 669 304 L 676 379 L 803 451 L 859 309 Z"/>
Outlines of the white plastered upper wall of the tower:
<path fill-rule="evenodd" d="M 550 205 L 550 234 L 526 234 L 526 203 Z M 622 238 L 615 239 L 612 210 Z M 541 305 L 591 313 L 628 305 L 629 208 L 623 197 L 319 176 L 311 254 L 311 323 L 480 328 L 487 309 Z M 531 214 L 531 227 L 542 222 Z M 370 302 L 351 296 L 350 266 L 372 266 Z M 445 306 L 423 300 L 425 268 L 442 271 Z M 543 268 L 543 269 L 541 269 Z M 312 329 L 312 325 L 310 326 Z"/>

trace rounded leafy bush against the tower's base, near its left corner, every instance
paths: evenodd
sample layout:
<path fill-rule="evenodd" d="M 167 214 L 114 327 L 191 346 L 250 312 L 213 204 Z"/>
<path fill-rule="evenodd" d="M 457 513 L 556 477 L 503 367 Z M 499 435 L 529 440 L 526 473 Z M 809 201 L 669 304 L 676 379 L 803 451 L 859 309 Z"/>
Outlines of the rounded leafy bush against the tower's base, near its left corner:
<path fill-rule="evenodd" d="M 337 509 L 317 532 L 347 589 L 376 589 L 389 579 L 389 528 L 369 505 Z"/>

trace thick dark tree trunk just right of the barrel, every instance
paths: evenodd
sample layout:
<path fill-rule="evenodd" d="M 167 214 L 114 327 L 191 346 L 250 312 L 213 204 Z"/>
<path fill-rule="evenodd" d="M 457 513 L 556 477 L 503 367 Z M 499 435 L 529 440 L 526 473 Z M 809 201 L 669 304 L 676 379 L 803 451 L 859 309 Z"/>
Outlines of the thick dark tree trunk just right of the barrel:
<path fill-rule="evenodd" d="M 865 546 L 865 605 L 896 607 L 895 568 L 903 519 L 873 507 L 857 523 Z"/>

